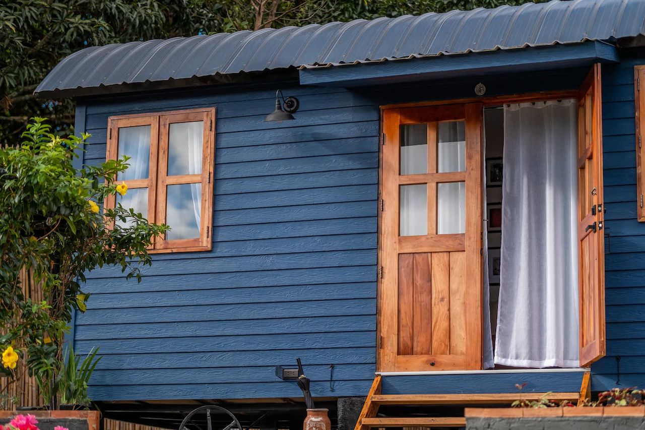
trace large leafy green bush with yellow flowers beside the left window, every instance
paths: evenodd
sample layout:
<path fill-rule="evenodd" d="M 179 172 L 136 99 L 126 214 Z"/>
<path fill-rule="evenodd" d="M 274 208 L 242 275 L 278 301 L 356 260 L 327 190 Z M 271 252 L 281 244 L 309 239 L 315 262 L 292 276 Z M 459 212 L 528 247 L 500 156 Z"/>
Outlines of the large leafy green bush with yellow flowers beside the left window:
<path fill-rule="evenodd" d="M 30 406 L 51 418 L 61 416 L 61 403 L 89 404 L 87 383 L 100 360 L 96 350 L 77 360 L 71 345 L 63 358 L 72 314 L 84 312 L 90 297 L 84 274 L 119 265 L 141 282 L 141 266 L 152 264 L 148 247 L 168 226 L 121 205 L 101 213 L 106 196 L 127 192 L 115 178 L 128 158 L 75 166 L 89 135 L 61 138 L 44 118 L 32 121 L 21 142 L 0 147 L 0 373 L 14 383 L 35 378 L 43 402 Z M 17 406 L 15 398 L 1 400 Z"/>

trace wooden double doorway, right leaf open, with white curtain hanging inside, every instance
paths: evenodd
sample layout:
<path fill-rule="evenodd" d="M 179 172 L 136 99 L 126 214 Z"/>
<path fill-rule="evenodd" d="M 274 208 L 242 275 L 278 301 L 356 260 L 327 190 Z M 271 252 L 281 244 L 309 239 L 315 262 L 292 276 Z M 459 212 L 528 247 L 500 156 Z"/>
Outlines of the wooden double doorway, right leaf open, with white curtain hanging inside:
<path fill-rule="evenodd" d="M 505 104 L 504 110 L 499 110 Z M 488 321 L 496 333 L 495 362 L 505 366 L 584 367 L 604 355 L 600 106 L 600 67 L 595 65 L 578 91 L 383 108 L 379 372 L 490 368 L 487 354 L 492 358 L 492 348 L 486 351 L 491 334 Z M 516 115 L 524 110 L 550 114 Z M 502 114 L 506 116 L 502 117 L 504 127 L 499 127 Z M 534 121 L 541 115 L 542 123 Z M 568 118 L 564 125 L 563 118 Z M 559 125 L 545 126 L 548 121 Z M 510 133 L 515 136 L 510 138 Z M 566 166 L 559 163 L 562 156 L 558 145 L 564 135 L 568 136 L 570 151 Z M 531 150 L 551 145 L 551 158 L 533 163 L 530 157 L 535 154 L 526 158 L 529 152 L 515 151 L 513 169 L 509 169 L 509 141 L 513 148 L 524 145 Z M 515 145 L 516 141 L 523 143 Z M 536 167 L 542 178 L 522 176 Z M 518 175 L 509 179 L 510 170 Z M 568 194 L 544 180 L 557 178 L 562 172 L 570 177 Z M 531 180 L 537 187 L 504 196 L 506 186 L 517 187 Z M 515 201 L 509 203 L 509 196 Z M 486 205 L 484 200 L 488 200 Z M 566 216 L 559 212 L 563 205 L 572 208 Z M 535 213 L 546 213 L 555 221 L 568 217 L 570 223 L 553 230 L 555 227 L 543 225 L 540 218 L 534 221 L 531 216 Z M 515 228 L 514 240 L 508 240 L 507 232 L 513 230 L 510 227 Z M 484 236 L 486 229 L 489 231 Z M 533 236 L 525 234 L 530 229 Z M 531 247 L 542 236 L 555 238 L 556 242 L 569 236 L 569 257 L 551 255 L 556 247 L 548 243 L 533 252 Z M 490 265 L 484 263 L 484 249 L 489 252 Z M 553 271 L 549 261 L 561 269 L 571 269 L 564 281 L 559 279 L 564 275 Z M 517 278 L 508 277 L 513 267 L 519 269 Z M 528 276 L 522 273 L 526 267 L 531 269 Z M 485 271 L 490 271 L 490 277 Z M 534 276 L 536 273 L 540 276 Z M 559 314 L 551 311 L 553 303 L 559 305 L 562 300 L 552 296 L 553 289 L 545 293 L 540 288 L 544 279 L 555 279 L 559 283 L 554 285 L 565 285 L 570 292 L 577 292 L 577 309 L 572 293 L 566 298 L 568 308 Z M 524 295 L 515 294 L 517 291 Z M 508 312 L 522 310 L 529 296 L 532 302 L 528 311 L 542 318 L 537 318 L 537 325 L 528 323 L 533 321 L 528 313 Z M 504 298 L 513 300 L 504 305 Z M 560 319 L 551 324 L 551 334 L 542 333 L 539 324 L 552 323 L 549 318 L 556 314 L 568 314 L 570 318 L 558 316 Z M 562 348 L 558 335 L 576 326 L 576 320 L 579 335 L 562 340 L 576 354 L 566 360 L 557 356 L 542 360 L 542 350 Z M 551 346 L 544 347 L 544 340 Z M 505 354 L 500 353 L 501 345 Z M 526 351 L 530 355 L 524 356 Z"/>

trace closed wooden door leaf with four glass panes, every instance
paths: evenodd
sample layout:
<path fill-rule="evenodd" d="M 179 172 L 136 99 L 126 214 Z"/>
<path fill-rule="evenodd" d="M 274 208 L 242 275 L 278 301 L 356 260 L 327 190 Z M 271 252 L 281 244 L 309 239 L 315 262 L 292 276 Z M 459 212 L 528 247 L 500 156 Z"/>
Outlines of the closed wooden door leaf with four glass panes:
<path fill-rule="evenodd" d="M 482 112 L 383 110 L 379 371 L 481 369 Z"/>

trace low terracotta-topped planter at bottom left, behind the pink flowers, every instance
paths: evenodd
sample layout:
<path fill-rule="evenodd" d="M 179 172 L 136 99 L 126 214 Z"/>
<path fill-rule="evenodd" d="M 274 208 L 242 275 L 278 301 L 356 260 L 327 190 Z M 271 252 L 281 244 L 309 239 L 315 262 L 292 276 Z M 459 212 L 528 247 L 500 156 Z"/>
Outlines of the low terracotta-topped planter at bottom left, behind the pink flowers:
<path fill-rule="evenodd" d="M 35 415 L 40 430 L 54 430 L 62 425 L 70 430 L 99 430 L 99 411 L 0 411 L 0 424 L 7 424 L 16 415 Z"/>

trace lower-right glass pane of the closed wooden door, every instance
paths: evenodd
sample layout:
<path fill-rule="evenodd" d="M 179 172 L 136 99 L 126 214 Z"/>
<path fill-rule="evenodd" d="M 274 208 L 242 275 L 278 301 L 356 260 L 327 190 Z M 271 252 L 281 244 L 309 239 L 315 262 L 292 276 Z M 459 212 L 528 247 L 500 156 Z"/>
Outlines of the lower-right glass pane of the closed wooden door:
<path fill-rule="evenodd" d="M 437 184 L 437 234 L 466 232 L 466 183 Z"/>

